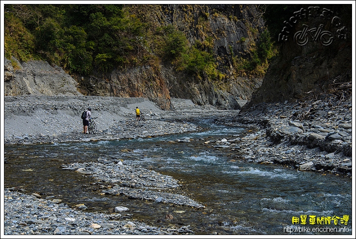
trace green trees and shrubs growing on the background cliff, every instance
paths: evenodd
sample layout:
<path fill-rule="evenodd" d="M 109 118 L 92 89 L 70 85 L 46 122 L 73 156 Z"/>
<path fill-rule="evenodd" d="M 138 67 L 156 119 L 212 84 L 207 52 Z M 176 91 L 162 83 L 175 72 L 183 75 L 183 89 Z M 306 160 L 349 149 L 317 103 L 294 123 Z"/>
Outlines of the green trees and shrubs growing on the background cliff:
<path fill-rule="evenodd" d="M 92 74 L 162 62 L 178 71 L 219 79 L 212 39 L 189 44 L 177 26 L 152 26 L 120 4 L 5 4 L 5 57 L 43 59 L 69 73 Z M 251 59 L 235 59 L 240 71 L 267 69 L 275 54 L 266 30 Z"/>

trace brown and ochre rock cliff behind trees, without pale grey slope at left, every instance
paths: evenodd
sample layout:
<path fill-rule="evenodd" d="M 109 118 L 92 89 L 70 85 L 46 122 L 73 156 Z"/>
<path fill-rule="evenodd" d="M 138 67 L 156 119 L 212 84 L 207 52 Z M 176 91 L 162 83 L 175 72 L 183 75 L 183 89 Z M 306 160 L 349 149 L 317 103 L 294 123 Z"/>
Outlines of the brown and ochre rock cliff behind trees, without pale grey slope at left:
<path fill-rule="evenodd" d="M 211 104 L 220 109 L 239 109 L 240 100 L 251 98 L 262 78 L 241 76 L 233 68 L 232 57 L 248 57 L 264 23 L 254 5 L 127 5 L 130 12 L 152 26 L 174 24 L 191 44 L 213 40 L 220 81 L 196 78 L 175 70 L 167 62 L 159 69 L 150 66 L 114 70 L 105 76 L 74 76 L 84 95 L 147 97 L 162 109 L 171 108 L 170 97 L 188 98 L 198 105 Z M 244 41 L 241 41 L 244 39 Z"/>

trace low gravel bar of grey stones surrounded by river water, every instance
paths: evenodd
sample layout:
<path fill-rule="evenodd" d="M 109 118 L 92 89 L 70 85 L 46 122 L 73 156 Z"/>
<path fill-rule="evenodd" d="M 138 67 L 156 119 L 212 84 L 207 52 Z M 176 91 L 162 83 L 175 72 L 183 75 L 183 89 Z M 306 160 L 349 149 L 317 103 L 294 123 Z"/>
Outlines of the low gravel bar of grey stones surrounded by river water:
<path fill-rule="evenodd" d="M 103 159 L 99 158 L 98 162 L 62 165 L 62 169 L 79 173 L 85 172 L 91 175 L 100 184 L 105 184 L 105 186 L 101 185 L 102 194 L 120 194 L 127 195 L 132 199 L 151 200 L 156 203 L 205 208 L 205 206 L 186 196 L 173 193 L 173 190 L 180 188 L 180 184 L 172 176 L 162 175 L 154 170 L 137 165 L 125 165 L 118 159 L 108 158 L 105 163 L 102 162 Z M 79 169 L 82 170 L 78 171 Z M 117 212 L 126 210 L 129 210 L 129 208 L 117 206 L 114 209 Z"/>

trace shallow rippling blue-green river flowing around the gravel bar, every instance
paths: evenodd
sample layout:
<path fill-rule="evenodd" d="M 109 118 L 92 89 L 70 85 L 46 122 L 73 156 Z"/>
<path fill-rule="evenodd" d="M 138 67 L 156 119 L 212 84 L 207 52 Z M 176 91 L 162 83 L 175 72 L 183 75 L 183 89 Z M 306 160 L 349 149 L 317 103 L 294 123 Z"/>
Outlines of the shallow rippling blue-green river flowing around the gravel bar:
<path fill-rule="evenodd" d="M 199 139 L 243 137 L 246 129 L 203 123 L 206 131 L 182 135 L 5 145 L 9 163 L 4 168 L 4 187 L 54 195 L 69 205 L 84 203 L 98 212 L 126 206 L 131 220 L 159 227 L 190 225 L 201 235 L 352 235 L 351 179 L 244 162 L 238 152 L 207 147 Z M 168 143 L 184 137 L 192 141 Z M 125 148 L 133 151 L 121 151 Z M 206 209 L 100 195 L 90 187 L 92 178 L 61 167 L 98 157 L 121 158 L 126 164 L 171 175 L 183 182 L 186 195 Z"/>

